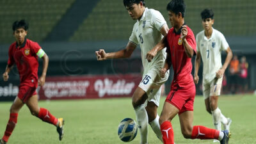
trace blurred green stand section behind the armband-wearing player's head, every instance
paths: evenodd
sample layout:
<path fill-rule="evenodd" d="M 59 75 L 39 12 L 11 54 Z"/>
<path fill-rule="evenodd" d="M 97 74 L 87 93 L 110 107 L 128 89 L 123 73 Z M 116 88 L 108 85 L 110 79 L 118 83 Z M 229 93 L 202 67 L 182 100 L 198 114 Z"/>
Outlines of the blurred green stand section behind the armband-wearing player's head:
<path fill-rule="evenodd" d="M 26 19 L 28 38 L 42 42 L 76 0 L 1 0 L 0 43 L 13 42 L 12 23 Z"/>

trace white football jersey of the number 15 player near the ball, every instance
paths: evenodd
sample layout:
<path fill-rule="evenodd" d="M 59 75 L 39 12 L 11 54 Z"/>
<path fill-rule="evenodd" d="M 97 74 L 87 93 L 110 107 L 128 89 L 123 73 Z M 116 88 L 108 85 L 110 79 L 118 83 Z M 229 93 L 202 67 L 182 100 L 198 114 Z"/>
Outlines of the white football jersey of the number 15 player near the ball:
<path fill-rule="evenodd" d="M 157 10 L 145 8 L 140 20 L 134 24 L 129 42 L 141 47 L 141 61 L 144 68 L 144 74 L 151 68 L 164 66 L 166 59 L 166 48 L 157 52 L 156 57 L 151 62 L 146 59 L 147 52 L 162 40 L 163 35 L 160 32 L 162 26 L 166 24 L 163 15 Z"/>

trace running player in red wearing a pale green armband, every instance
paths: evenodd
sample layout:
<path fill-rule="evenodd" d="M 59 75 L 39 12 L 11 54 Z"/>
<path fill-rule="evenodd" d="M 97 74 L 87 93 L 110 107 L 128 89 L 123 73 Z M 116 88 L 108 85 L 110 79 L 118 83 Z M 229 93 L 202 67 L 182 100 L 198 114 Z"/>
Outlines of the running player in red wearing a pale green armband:
<path fill-rule="evenodd" d="M 18 113 L 26 104 L 32 115 L 40 118 L 44 122 L 57 127 L 60 140 L 63 138 L 63 118 L 56 118 L 45 108 L 38 107 L 38 95 L 36 87 L 43 86 L 48 67 L 48 56 L 36 42 L 26 38 L 28 34 L 28 23 L 25 20 L 13 22 L 13 36 L 16 39 L 9 48 L 9 59 L 6 70 L 3 74 L 4 81 L 8 81 L 8 74 L 13 65 L 16 64 L 19 70 L 20 85 L 19 93 L 10 108 L 10 118 L 6 125 L 3 138 L 0 144 L 7 143 L 15 125 L 17 124 Z M 38 79 L 38 57 L 44 61 L 42 76 Z"/>

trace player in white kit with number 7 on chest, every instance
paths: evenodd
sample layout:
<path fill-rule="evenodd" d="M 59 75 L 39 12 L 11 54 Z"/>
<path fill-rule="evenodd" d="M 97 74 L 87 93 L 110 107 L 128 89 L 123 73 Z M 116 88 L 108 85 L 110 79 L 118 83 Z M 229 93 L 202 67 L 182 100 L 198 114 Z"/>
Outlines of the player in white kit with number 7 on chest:
<path fill-rule="evenodd" d="M 224 129 L 229 130 L 231 119 L 226 118 L 218 108 L 218 96 L 221 91 L 223 74 L 232 59 L 232 51 L 223 34 L 212 28 L 212 24 L 214 24 L 213 16 L 214 13 L 211 9 L 205 9 L 201 12 L 204 31 L 201 31 L 196 35 L 197 54 L 195 60 L 194 81 L 196 84 L 198 83 L 198 70 L 202 58 L 204 62 L 203 91 L 205 107 L 212 115 L 216 129 L 221 130 L 222 123 Z M 221 51 L 227 53 L 223 65 L 221 63 Z"/>

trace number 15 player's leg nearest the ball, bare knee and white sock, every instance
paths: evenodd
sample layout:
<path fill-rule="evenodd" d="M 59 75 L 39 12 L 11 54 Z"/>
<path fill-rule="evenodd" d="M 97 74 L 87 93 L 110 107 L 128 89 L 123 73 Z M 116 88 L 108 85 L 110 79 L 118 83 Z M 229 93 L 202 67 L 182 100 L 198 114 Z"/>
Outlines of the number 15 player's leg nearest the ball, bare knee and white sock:
<path fill-rule="evenodd" d="M 148 115 L 144 103 L 147 100 L 147 93 L 140 87 L 136 88 L 132 95 L 132 106 L 136 113 L 138 128 L 141 134 L 141 144 L 148 143 Z"/>

